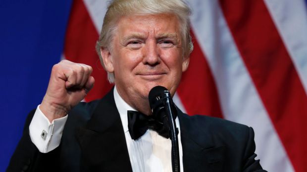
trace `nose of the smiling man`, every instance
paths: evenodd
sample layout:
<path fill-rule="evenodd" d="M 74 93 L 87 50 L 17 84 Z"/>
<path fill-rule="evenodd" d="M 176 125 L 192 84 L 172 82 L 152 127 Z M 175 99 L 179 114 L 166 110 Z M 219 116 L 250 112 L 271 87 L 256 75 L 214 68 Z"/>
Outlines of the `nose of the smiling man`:
<path fill-rule="evenodd" d="M 155 66 L 160 63 L 160 52 L 155 41 L 148 41 L 143 48 L 143 63 Z"/>

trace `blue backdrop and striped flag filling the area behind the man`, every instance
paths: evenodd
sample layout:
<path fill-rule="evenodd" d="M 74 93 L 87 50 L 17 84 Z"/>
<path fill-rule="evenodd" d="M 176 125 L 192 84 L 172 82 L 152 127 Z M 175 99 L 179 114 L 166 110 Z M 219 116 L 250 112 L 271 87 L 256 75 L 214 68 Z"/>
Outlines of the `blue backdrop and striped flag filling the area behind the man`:
<path fill-rule="evenodd" d="M 254 128 L 269 172 L 307 172 L 307 0 L 188 0 L 194 51 L 174 96 L 190 115 Z M 0 171 L 61 59 L 89 64 L 86 101 L 111 87 L 95 51 L 106 0 L 0 0 Z"/>

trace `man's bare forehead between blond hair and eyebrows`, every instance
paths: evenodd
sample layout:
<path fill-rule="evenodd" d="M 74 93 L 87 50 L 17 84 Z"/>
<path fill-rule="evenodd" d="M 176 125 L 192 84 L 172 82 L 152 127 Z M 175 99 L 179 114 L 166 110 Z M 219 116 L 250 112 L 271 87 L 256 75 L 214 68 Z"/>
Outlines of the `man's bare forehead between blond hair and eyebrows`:
<path fill-rule="evenodd" d="M 179 34 L 179 21 L 173 14 L 129 15 L 123 16 L 117 23 L 120 36 L 129 34 L 163 35 Z"/>

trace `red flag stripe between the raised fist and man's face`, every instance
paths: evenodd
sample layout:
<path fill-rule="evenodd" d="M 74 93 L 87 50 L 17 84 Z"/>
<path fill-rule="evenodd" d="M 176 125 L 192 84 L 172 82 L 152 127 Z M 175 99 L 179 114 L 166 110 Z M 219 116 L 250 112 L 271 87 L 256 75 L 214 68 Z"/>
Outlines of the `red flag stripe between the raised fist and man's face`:
<path fill-rule="evenodd" d="M 67 60 L 93 67 L 95 86 L 85 97 L 86 101 L 101 98 L 112 87 L 107 81 L 99 56 L 95 51 L 98 33 L 82 0 L 74 0 L 67 26 L 64 55 Z"/>

